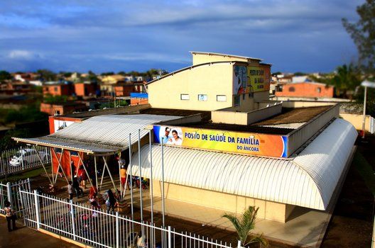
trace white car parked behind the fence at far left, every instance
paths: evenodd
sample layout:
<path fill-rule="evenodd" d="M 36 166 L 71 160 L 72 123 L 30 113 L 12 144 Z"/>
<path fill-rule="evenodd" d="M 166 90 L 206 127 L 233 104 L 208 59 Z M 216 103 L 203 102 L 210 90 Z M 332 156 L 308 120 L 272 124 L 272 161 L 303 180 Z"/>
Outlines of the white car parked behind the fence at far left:
<path fill-rule="evenodd" d="M 48 161 L 50 159 L 50 154 L 44 151 L 38 152 L 41 159 L 43 159 L 43 162 Z M 37 151 L 33 148 L 26 148 L 19 150 L 16 152 L 16 155 L 11 157 L 11 161 L 9 161 L 9 164 L 12 167 L 19 167 L 19 166 L 27 166 L 28 164 L 38 163 L 39 158 Z"/>

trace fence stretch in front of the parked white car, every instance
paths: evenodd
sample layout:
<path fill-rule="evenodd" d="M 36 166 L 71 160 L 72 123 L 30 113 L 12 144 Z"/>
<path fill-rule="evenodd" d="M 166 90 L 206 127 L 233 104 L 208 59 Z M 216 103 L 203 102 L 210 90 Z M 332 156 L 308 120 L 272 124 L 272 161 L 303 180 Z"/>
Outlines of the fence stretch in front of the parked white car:
<path fill-rule="evenodd" d="M 0 176 L 14 174 L 26 169 L 50 164 L 50 150 L 47 147 L 20 147 L 0 153 Z"/>

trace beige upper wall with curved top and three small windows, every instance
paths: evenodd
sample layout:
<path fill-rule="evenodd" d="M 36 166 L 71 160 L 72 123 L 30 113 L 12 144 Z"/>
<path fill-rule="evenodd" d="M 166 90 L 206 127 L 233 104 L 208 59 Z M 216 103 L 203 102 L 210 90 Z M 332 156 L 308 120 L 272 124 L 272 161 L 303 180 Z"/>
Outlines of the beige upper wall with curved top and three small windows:
<path fill-rule="evenodd" d="M 212 111 L 232 106 L 233 64 L 219 63 L 186 69 L 148 84 L 148 103 L 153 108 L 177 108 Z M 181 100 L 189 94 L 190 100 Z M 198 94 L 207 94 L 207 101 L 198 101 Z M 217 101 L 217 95 L 227 101 Z"/>

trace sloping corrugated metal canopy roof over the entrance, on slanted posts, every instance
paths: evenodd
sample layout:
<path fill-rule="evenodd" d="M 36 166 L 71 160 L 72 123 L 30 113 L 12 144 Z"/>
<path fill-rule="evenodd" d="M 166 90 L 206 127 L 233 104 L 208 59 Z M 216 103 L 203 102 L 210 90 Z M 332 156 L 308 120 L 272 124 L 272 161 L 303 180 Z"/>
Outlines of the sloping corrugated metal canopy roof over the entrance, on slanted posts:
<path fill-rule="evenodd" d="M 138 129 L 141 130 L 141 137 L 143 137 L 148 133 L 148 130 L 144 130 L 147 125 L 178 118 L 180 117 L 143 114 L 99 115 L 84 120 L 82 123 L 73 123 L 52 135 L 13 139 L 20 142 L 60 147 L 80 152 L 116 152 L 125 150 L 129 146 L 129 133 L 131 133 L 133 137 L 132 143 L 134 143 L 138 139 Z"/>

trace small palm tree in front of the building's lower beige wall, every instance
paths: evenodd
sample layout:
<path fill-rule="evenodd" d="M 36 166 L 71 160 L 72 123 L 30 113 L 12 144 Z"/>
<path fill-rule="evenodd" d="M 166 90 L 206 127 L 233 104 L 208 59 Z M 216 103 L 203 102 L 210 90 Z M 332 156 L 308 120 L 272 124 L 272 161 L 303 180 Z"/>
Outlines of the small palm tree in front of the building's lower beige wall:
<path fill-rule="evenodd" d="M 259 208 L 255 208 L 254 206 L 249 206 L 244 210 L 240 218 L 237 218 L 234 213 L 225 213 L 222 215 L 223 218 L 227 218 L 232 225 L 236 229 L 239 241 L 241 241 L 241 245 L 244 247 L 251 243 L 259 242 L 264 246 L 267 246 L 268 243 L 266 239 L 263 239 L 262 235 L 255 235 L 249 239 L 249 235 L 251 230 L 254 230 L 255 227 L 255 220 L 256 214 L 258 213 Z M 249 239 L 249 240 L 248 240 Z"/>

